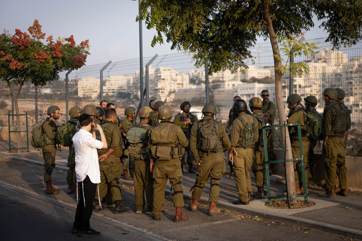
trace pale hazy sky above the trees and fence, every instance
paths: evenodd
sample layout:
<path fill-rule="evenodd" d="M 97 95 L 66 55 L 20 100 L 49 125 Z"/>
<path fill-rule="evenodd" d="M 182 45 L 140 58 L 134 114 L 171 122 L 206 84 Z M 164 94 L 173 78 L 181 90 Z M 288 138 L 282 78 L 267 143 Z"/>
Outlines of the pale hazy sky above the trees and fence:
<path fill-rule="evenodd" d="M 42 25 L 46 37 L 50 34 L 54 39 L 58 36 L 74 36 L 77 44 L 89 39 L 90 55 L 87 65 L 138 59 L 139 58 L 139 23 L 138 0 L 6 0 L 0 4 L 0 31 L 15 29 L 29 33 L 29 26 L 35 19 Z M 317 26 L 308 31 L 306 39 L 327 37 L 327 33 Z M 166 55 L 176 53 L 171 50 L 171 44 L 151 47 L 154 29 L 148 30 L 143 22 L 143 57 L 153 57 L 155 54 Z M 262 43 L 258 39 L 257 43 Z"/>

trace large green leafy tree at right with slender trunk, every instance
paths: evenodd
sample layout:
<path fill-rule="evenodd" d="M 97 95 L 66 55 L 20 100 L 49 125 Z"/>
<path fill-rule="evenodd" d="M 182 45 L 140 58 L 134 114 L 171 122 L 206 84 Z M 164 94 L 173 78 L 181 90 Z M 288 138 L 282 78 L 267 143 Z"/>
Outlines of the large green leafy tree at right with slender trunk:
<path fill-rule="evenodd" d="M 214 0 L 160 1 L 142 0 L 136 20 L 145 20 L 147 28 L 157 34 L 151 45 L 163 43 L 163 34 L 171 49 L 193 53 L 198 67 L 209 61 L 209 72 L 228 68 L 232 72 L 247 68 L 253 56 L 248 48 L 256 37 L 270 40 L 274 56 L 275 95 L 279 120 L 286 122 L 282 99 L 282 66 L 277 35 L 281 38 L 300 35 L 314 26 L 313 15 L 324 20 L 328 41 L 334 48 L 349 46 L 362 37 L 362 2 L 359 0 Z M 327 19 L 327 20 L 325 20 Z M 303 48 L 297 41 L 294 46 Z M 297 70 L 298 66 L 291 66 Z M 284 130 L 282 130 L 284 133 Z M 286 132 L 288 133 L 288 132 Z M 289 135 L 286 159 L 292 159 Z M 292 163 L 287 164 L 288 190 L 295 194 Z"/>

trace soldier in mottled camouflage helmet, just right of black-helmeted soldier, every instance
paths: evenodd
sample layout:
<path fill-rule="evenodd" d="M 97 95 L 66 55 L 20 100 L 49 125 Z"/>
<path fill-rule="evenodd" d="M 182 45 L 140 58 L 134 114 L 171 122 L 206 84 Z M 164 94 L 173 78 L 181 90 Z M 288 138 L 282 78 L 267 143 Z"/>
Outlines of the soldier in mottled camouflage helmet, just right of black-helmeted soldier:
<path fill-rule="evenodd" d="M 249 106 L 253 116 L 258 120 L 258 141 L 255 143 L 253 151 L 253 164 L 252 169 L 255 177 L 256 188 L 258 189 L 256 194 L 252 196 L 254 198 L 264 198 L 264 182 L 265 182 L 265 156 L 264 156 L 264 139 L 262 134 L 262 123 L 270 124 L 271 120 L 268 115 L 263 113 L 261 109 L 262 100 L 258 97 L 253 97 L 249 101 Z M 270 133 L 268 133 L 270 134 Z M 269 136 L 267 137 L 267 143 Z M 268 144 L 267 144 L 268 145 Z"/>

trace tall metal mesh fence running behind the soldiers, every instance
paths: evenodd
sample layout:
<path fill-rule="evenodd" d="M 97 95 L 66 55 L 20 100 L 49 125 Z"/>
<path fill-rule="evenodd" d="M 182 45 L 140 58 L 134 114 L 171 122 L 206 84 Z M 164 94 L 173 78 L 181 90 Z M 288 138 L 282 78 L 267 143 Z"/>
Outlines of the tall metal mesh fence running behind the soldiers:
<path fill-rule="evenodd" d="M 361 156 L 362 145 L 358 140 L 362 133 L 362 43 L 333 51 L 331 44 L 325 43 L 324 40 L 323 38 L 306 40 L 305 42 L 316 44 L 318 47 L 316 53 L 294 57 L 294 62 L 307 63 L 310 73 L 292 76 L 293 90 L 302 99 L 308 95 L 316 96 L 317 111 L 323 112 L 323 90 L 327 87 L 344 89 L 346 93 L 344 102 L 352 111 L 352 130 L 349 132 L 347 142 L 348 154 Z M 223 125 L 226 125 L 233 97 L 236 95 L 248 102 L 254 96 L 260 97 L 261 90 L 267 89 L 270 94 L 269 99 L 275 103 L 274 62 L 270 43 L 257 44 L 250 51 L 254 56 L 255 64 L 250 65 L 244 73 L 231 74 L 230 70 L 224 69 L 209 76 L 209 99 L 210 102 L 216 104 L 217 119 Z M 287 59 L 286 56 L 282 57 Z M 151 59 L 152 57 L 146 57 L 143 63 L 146 65 Z M 201 117 L 201 109 L 206 101 L 205 68 L 195 68 L 194 64 L 195 61 L 188 53 L 158 56 L 148 68 L 147 100 L 162 100 L 174 109 L 175 114 L 180 112 L 181 102 L 188 100 L 191 103 L 190 112 Z M 66 100 L 65 72 L 60 74 L 58 81 L 38 87 L 37 118 L 35 117 L 35 87 L 27 83 L 22 88 L 19 99 L 20 112 L 28 112 L 29 125 L 32 126 L 36 119 L 41 120 L 46 117 L 47 107 L 57 105 L 62 114 L 59 123 L 62 123 L 66 121 L 68 115 L 67 101 L 68 108 L 71 108 L 85 104 L 99 106 L 101 100 L 106 100 L 115 104 L 118 115 L 123 118 L 124 109 L 128 106 L 137 107 L 140 101 L 139 59 L 111 63 L 103 72 L 103 96 L 101 97 L 100 70 L 105 65 L 84 66 L 72 71 L 68 76 L 68 100 Z M 143 73 L 145 75 L 145 68 Z M 145 86 L 146 76 L 143 79 Z M 289 81 L 290 75 L 285 73 L 283 76 L 284 103 L 290 94 Z M 4 83 L 1 85 L 5 90 Z M 5 102 L 8 106 L 0 109 L 2 115 L 0 124 L 2 125 L 7 125 L 7 117 L 4 115 L 11 113 L 11 97 L 5 94 L 4 91 L 1 103 Z M 143 106 L 147 105 L 145 99 Z"/>

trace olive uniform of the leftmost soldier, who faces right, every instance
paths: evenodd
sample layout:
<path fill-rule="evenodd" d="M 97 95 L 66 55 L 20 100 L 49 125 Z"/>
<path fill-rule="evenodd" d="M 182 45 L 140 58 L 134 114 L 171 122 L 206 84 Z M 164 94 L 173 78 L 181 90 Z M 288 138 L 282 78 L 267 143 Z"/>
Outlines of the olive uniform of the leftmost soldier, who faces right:
<path fill-rule="evenodd" d="M 53 126 L 52 126 L 53 125 Z M 49 182 L 52 180 L 51 173 L 55 168 L 55 154 L 56 154 L 56 128 L 55 122 L 49 121 L 49 117 L 43 124 L 44 141 L 43 159 L 44 159 L 44 181 Z"/>

